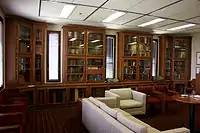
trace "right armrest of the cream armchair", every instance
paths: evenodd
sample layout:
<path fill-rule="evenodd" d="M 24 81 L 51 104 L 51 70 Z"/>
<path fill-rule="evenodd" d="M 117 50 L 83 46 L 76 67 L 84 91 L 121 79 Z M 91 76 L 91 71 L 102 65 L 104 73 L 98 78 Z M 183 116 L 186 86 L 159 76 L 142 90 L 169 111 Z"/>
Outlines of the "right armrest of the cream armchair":
<path fill-rule="evenodd" d="M 132 90 L 133 99 L 146 105 L 146 94 Z"/>

